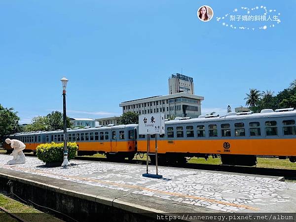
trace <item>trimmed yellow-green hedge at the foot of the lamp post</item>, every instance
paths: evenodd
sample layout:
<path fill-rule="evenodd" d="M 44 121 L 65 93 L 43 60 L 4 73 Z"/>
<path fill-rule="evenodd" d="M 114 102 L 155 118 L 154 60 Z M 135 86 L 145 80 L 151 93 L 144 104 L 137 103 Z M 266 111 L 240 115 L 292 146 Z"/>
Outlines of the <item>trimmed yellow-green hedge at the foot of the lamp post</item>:
<path fill-rule="evenodd" d="M 73 159 L 76 155 L 78 146 L 76 143 L 67 143 L 68 148 L 68 160 Z M 40 144 L 36 148 L 36 154 L 39 160 L 45 163 L 63 162 L 64 144 L 56 144 L 54 142 L 50 144 Z"/>

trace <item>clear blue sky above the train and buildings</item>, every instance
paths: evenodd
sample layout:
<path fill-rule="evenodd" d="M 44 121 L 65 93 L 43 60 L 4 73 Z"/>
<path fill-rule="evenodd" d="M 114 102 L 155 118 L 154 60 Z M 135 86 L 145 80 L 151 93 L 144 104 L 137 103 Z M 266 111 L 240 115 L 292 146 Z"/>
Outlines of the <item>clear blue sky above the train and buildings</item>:
<path fill-rule="evenodd" d="M 197 18 L 201 5 L 211 21 Z M 281 23 L 251 31 L 216 19 L 260 5 Z M 245 105 L 249 88 L 277 93 L 296 78 L 295 14 L 296 1 L 277 0 L 1 0 L 0 104 L 21 123 L 62 111 L 65 75 L 68 116 L 119 115 L 120 102 L 167 95 L 182 69 L 205 97 L 202 112 L 223 113 Z"/>

